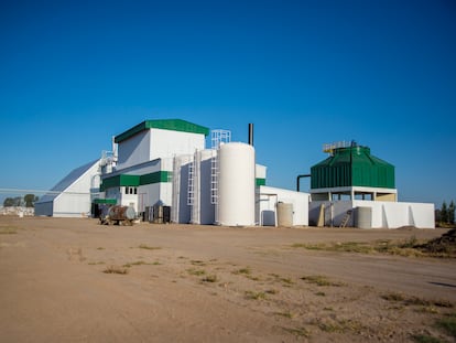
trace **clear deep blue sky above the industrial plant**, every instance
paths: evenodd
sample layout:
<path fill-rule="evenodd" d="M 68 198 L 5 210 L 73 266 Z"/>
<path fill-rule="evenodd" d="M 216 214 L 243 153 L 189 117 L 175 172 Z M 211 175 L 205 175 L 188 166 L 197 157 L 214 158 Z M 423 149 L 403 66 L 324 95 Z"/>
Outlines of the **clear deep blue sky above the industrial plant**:
<path fill-rule="evenodd" d="M 456 200 L 453 0 L 2 1 L 0 44 L 0 187 L 51 189 L 180 118 L 237 141 L 253 122 L 272 186 L 356 140 L 400 201 Z"/>

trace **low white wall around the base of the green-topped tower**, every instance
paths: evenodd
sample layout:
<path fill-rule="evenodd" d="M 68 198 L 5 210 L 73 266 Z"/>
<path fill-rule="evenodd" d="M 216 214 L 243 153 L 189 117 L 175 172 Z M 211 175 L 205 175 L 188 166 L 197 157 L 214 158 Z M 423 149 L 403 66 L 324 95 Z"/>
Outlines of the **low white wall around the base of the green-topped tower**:
<path fill-rule="evenodd" d="M 325 204 L 325 225 L 339 226 L 348 210 L 356 207 L 372 208 L 372 228 L 398 228 L 402 226 L 414 226 L 419 228 L 435 228 L 434 204 L 428 203 L 403 203 L 380 201 L 336 201 L 336 202 L 311 202 L 310 221 L 316 224 L 319 207 Z M 347 226 L 355 226 L 355 215 L 350 217 Z"/>

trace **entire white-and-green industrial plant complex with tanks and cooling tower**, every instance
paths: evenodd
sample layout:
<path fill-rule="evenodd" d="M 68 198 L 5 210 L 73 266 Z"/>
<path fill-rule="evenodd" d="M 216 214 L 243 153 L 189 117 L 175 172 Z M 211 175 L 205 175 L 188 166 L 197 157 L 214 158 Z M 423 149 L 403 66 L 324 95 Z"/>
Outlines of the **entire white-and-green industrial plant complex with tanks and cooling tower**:
<path fill-rule="evenodd" d="M 97 216 L 117 204 L 159 223 L 434 227 L 434 205 L 399 203 L 394 167 L 369 148 L 350 142 L 325 151 L 329 158 L 311 168 L 310 193 L 283 190 L 267 185 L 252 135 L 249 143 L 234 142 L 228 130 L 145 120 L 62 180 L 36 203 L 35 215 Z"/>

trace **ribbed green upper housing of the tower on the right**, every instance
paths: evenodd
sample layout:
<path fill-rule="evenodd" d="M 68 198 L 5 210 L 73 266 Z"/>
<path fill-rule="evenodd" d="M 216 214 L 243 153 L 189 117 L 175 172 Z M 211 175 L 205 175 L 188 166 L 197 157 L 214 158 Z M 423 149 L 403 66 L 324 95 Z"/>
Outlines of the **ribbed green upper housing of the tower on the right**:
<path fill-rule="evenodd" d="M 340 186 L 394 189 L 394 165 L 371 156 L 368 147 L 337 148 L 311 168 L 311 187 Z"/>

